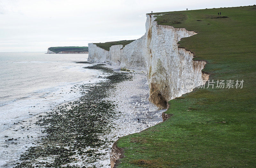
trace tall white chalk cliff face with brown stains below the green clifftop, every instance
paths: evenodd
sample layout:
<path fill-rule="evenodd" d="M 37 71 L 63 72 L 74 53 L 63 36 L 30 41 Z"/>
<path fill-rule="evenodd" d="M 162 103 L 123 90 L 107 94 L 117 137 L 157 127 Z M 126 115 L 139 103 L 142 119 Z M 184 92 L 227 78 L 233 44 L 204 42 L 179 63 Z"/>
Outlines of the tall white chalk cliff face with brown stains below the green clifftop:
<path fill-rule="evenodd" d="M 177 44 L 181 38 L 196 32 L 157 25 L 155 19 L 153 15 L 147 15 L 145 35 L 124 47 L 113 45 L 106 51 L 96 44 L 88 44 L 88 61 L 147 71 L 149 100 L 166 108 L 167 101 L 191 92 L 204 84 L 209 76 L 202 72 L 206 61 L 193 60 L 193 53 Z M 193 83 L 192 87 L 188 87 L 188 83 Z"/>

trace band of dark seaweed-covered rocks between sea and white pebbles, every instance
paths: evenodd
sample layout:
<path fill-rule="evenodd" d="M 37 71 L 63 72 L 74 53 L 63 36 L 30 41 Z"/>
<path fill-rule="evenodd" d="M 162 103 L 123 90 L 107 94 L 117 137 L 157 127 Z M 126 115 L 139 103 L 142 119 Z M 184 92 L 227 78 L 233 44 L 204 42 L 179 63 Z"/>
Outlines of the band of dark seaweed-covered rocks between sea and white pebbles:
<path fill-rule="evenodd" d="M 81 85 L 83 96 L 72 103 L 71 109 L 67 109 L 68 105 L 57 107 L 46 119 L 36 122 L 45 127 L 44 132 L 47 135 L 36 147 L 29 148 L 21 155 L 21 162 L 16 164 L 16 168 L 86 167 L 84 165 L 99 159 L 101 154 L 90 148 L 110 143 L 100 137 L 110 132 L 109 123 L 115 116 L 115 104 L 103 99 L 108 96 L 108 90 L 113 89 L 117 83 L 132 80 L 130 73 L 114 72 L 103 65 L 85 68 L 108 73 L 106 81 Z M 82 161 L 83 165 L 77 165 L 77 160 L 80 163 Z"/>

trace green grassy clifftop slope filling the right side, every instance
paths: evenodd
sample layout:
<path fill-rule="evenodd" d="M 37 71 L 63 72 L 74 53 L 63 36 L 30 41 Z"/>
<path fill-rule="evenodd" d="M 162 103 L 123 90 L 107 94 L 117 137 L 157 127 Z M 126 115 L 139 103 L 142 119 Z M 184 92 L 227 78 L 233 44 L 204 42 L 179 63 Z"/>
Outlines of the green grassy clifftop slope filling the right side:
<path fill-rule="evenodd" d="M 210 19 L 218 12 L 229 18 Z M 158 24 L 198 32 L 180 47 L 209 62 L 210 80 L 243 79 L 244 87 L 194 89 L 169 101 L 173 116 L 118 140 L 118 167 L 256 166 L 256 6 L 166 13 L 182 14 L 158 16 Z"/>

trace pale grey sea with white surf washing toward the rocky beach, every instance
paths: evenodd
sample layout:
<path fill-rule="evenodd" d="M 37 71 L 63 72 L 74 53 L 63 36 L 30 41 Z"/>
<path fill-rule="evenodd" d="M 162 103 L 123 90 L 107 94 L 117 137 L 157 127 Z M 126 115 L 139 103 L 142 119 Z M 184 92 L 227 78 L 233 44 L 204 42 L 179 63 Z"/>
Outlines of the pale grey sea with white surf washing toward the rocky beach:
<path fill-rule="evenodd" d="M 87 58 L 88 54 L 0 52 L 0 167 L 9 167 L 42 136 L 34 124 L 37 115 L 78 99 L 76 86 L 103 80 L 101 72 L 83 68 L 90 64 L 76 63 Z"/>

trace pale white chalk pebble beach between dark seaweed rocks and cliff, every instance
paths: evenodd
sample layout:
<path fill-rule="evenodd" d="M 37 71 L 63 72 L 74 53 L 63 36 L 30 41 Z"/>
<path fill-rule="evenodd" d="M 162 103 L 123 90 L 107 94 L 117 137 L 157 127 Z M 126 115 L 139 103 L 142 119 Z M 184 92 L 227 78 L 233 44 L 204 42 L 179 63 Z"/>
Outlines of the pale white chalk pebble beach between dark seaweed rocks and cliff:
<path fill-rule="evenodd" d="M 113 66 L 108 66 L 114 68 Z M 113 143 L 120 137 L 141 132 L 148 127 L 162 122 L 162 113 L 158 107 L 149 102 L 148 82 L 145 73 L 132 73 L 132 80 L 126 80 L 109 90 L 106 100 L 116 103 L 116 116 L 110 123 L 111 132 L 103 139 L 111 140 L 107 150 L 102 150 L 103 155 L 97 166 L 110 167 L 110 152 Z M 139 120 L 138 120 L 139 119 Z"/>

